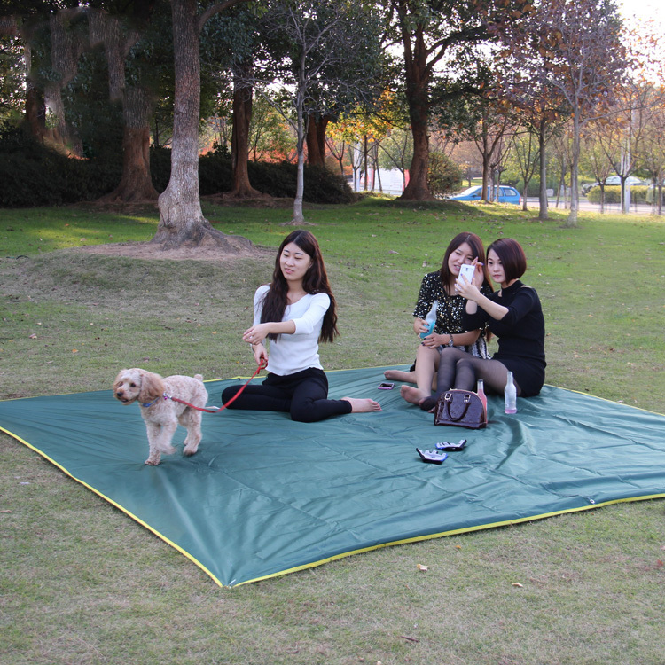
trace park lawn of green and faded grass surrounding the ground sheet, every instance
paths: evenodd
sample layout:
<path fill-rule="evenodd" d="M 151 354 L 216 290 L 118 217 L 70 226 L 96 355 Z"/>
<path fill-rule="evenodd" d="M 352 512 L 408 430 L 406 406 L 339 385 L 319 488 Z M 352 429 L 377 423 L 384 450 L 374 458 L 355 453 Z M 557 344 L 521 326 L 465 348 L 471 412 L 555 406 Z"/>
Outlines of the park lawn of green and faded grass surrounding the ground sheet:
<path fill-rule="evenodd" d="M 127 365 L 251 373 L 240 333 L 289 211 L 205 211 L 270 252 L 223 262 L 82 254 L 72 248 L 150 239 L 156 212 L 0 211 L 0 398 L 106 389 Z M 309 207 L 307 217 L 340 305 L 342 336 L 322 348 L 327 369 L 410 362 L 420 279 L 468 230 L 525 247 L 548 383 L 665 412 L 661 220 L 581 215 L 571 230 L 565 214 L 538 223 L 515 207 L 389 200 Z M 665 663 L 661 501 L 386 548 L 225 590 L 4 434 L 0 464 L 0 660 L 12 665 Z"/>

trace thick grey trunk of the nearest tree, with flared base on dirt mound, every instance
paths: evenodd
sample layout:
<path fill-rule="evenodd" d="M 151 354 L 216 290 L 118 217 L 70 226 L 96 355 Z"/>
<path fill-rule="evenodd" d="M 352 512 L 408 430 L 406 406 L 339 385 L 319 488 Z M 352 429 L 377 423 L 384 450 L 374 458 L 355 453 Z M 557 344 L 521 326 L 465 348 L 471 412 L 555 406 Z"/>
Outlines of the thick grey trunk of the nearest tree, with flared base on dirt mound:
<path fill-rule="evenodd" d="M 217 246 L 237 254 L 249 240 L 226 236 L 203 216 L 199 192 L 200 58 L 196 0 L 171 0 L 176 90 L 171 177 L 160 194 L 160 223 L 151 242 L 164 249 Z M 242 241 L 242 242 L 239 242 Z"/>

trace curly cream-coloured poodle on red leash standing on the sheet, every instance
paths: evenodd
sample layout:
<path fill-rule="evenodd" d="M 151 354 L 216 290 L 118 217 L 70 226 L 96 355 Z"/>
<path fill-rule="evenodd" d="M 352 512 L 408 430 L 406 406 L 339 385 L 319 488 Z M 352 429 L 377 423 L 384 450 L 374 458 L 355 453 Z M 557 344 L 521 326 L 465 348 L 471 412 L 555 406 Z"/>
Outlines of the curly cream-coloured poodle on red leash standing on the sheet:
<path fill-rule="evenodd" d="M 113 383 L 113 395 L 123 404 L 138 401 L 141 415 L 148 430 L 150 455 L 145 464 L 156 466 L 160 463 L 160 454 L 170 455 L 176 452 L 171 445 L 178 423 L 187 429 L 184 440 L 184 455 L 193 455 L 201 440 L 201 411 L 186 404 L 174 402 L 171 397 L 184 400 L 203 408 L 207 403 L 207 390 L 203 377 L 194 378 L 176 374 L 166 379 L 159 374 L 146 372 L 137 367 L 121 370 Z"/>

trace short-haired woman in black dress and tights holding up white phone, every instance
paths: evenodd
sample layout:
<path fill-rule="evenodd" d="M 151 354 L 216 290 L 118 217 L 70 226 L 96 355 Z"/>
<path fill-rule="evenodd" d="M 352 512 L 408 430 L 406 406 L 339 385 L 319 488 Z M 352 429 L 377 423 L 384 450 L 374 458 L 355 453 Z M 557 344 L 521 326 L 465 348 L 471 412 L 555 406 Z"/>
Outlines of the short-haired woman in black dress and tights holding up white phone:
<path fill-rule="evenodd" d="M 446 386 L 444 390 L 450 386 L 473 390 L 476 379 L 483 379 L 486 392 L 502 394 L 510 371 L 518 395 L 537 395 L 545 378 L 545 324 L 536 290 L 520 282 L 527 270 L 527 257 L 517 240 L 501 238 L 488 247 L 487 263 L 490 277 L 501 287 L 498 291 L 481 293 L 480 267 L 472 283 L 459 278 L 456 291 L 466 298 L 465 328 L 487 325 L 497 336 L 498 351 L 485 360 L 444 348 L 440 385 Z"/>

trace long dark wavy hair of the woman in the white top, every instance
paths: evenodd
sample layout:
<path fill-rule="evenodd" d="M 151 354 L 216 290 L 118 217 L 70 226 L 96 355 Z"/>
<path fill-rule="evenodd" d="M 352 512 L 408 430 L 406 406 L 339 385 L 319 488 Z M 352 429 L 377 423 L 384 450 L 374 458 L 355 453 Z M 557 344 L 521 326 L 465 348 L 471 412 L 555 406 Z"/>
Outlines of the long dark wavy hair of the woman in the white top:
<path fill-rule="evenodd" d="M 332 341 L 340 334 L 337 330 L 337 303 L 332 295 L 328 275 L 325 272 L 324 257 L 318 246 L 317 239 L 309 232 L 298 229 L 289 233 L 279 246 L 277 258 L 275 259 L 275 270 L 272 272 L 272 282 L 268 293 L 263 298 L 263 309 L 261 323 L 266 324 L 273 321 L 281 321 L 286 311 L 286 297 L 288 295 L 288 282 L 282 273 L 279 259 L 284 248 L 289 243 L 295 243 L 311 259 L 311 265 L 302 278 L 302 288 L 305 293 L 327 293 L 330 298 L 330 307 L 325 312 L 324 322 L 321 326 L 319 341 Z M 277 340 L 278 335 L 268 335 L 270 340 Z"/>

